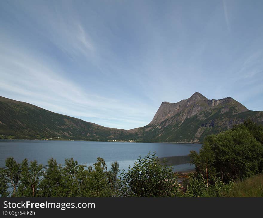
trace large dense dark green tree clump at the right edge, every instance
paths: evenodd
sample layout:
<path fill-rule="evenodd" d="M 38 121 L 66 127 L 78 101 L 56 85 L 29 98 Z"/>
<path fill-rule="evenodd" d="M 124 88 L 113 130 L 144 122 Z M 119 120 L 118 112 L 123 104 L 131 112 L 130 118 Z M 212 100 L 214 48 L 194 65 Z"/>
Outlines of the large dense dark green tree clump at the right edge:
<path fill-rule="evenodd" d="M 190 153 L 195 169 L 212 183 L 214 176 L 223 182 L 244 179 L 263 170 L 263 147 L 246 129 L 236 128 L 207 136 L 197 154 Z"/>

